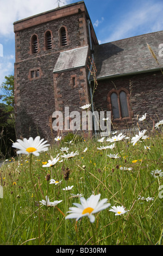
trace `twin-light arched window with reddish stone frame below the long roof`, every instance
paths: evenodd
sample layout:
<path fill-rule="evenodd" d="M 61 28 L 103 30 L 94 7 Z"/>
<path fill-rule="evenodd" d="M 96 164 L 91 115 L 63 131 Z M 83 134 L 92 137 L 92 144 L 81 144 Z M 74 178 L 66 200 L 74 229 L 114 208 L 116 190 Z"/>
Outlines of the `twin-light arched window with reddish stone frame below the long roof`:
<path fill-rule="evenodd" d="M 129 104 L 129 92 L 121 88 L 112 89 L 108 94 L 109 109 L 113 119 L 122 119 L 131 117 L 131 108 Z"/>

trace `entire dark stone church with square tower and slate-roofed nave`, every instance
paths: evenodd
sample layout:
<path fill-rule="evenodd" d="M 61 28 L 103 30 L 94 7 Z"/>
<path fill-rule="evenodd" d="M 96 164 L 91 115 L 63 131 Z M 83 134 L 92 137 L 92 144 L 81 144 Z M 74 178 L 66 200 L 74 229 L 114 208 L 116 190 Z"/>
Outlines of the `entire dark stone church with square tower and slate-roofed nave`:
<path fill-rule="evenodd" d="M 99 44 L 80 1 L 16 21 L 14 32 L 17 138 L 71 132 L 53 129 L 53 113 L 89 103 L 111 112 L 112 130 L 136 127 L 145 113 L 151 126 L 163 119 L 163 31 Z"/>

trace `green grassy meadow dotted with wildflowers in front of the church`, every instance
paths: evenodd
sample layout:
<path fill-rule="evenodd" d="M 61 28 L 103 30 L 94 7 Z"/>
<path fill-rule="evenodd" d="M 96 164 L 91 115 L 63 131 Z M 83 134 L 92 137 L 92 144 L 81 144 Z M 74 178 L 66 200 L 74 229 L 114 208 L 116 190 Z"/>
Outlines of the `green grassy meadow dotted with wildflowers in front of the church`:
<path fill-rule="evenodd" d="M 162 132 L 147 130 L 145 135 L 135 145 L 123 138 L 113 149 L 101 148 L 113 144 L 106 137 L 103 142 L 75 137 L 71 144 L 61 138 L 39 156 L 20 154 L 4 161 L 0 245 L 162 245 Z M 61 151 L 65 147 L 77 154 L 42 167 L 58 154 L 67 154 Z M 153 175 L 153 170 L 162 171 Z M 59 182 L 50 184 L 51 179 Z M 71 190 L 63 190 L 68 186 Z M 87 199 L 91 194 L 107 198 L 110 207 L 94 214 L 93 223 L 87 216 L 65 219 L 80 196 Z M 61 202 L 39 203 L 46 196 Z M 124 214 L 109 211 L 119 205 L 126 209 Z"/>

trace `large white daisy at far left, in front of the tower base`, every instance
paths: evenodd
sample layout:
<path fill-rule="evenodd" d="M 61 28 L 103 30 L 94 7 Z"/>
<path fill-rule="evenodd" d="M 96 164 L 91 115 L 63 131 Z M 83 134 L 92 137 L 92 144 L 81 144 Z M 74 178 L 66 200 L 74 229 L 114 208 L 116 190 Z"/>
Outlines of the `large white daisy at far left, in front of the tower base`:
<path fill-rule="evenodd" d="M 45 144 L 47 141 L 43 141 L 44 139 L 40 139 L 40 136 L 37 136 L 35 139 L 30 137 L 29 139 L 24 138 L 23 141 L 21 139 L 17 139 L 17 142 L 12 144 L 13 148 L 19 149 L 17 154 L 33 154 L 35 156 L 39 156 L 41 152 L 47 151 L 48 146 L 50 144 Z"/>

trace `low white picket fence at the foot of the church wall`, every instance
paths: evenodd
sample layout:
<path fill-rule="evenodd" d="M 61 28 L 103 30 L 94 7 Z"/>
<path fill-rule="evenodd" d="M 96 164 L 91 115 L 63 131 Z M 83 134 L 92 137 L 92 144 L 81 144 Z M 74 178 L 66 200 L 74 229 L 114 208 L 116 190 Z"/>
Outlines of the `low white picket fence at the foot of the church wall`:
<path fill-rule="evenodd" d="M 112 130 L 112 131 L 107 131 L 107 132 L 96 132 L 94 134 L 95 138 L 101 138 L 101 137 L 109 137 L 109 136 L 114 136 L 114 132 L 117 132 L 116 135 L 122 133 L 123 135 L 126 135 L 128 137 L 133 137 L 136 134 L 139 134 L 139 128 L 138 127 L 133 127 L 129 129 L 123 129 L 123 130 Z"/>

